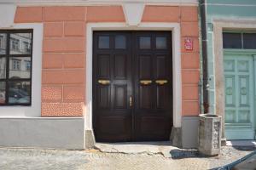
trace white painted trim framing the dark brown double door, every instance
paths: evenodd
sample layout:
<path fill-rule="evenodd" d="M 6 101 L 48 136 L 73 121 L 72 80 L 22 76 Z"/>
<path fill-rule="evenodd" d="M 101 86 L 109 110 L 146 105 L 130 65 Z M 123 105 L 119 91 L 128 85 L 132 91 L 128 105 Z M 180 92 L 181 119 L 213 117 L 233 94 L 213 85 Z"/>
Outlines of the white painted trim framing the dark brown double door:
<path fill-rule="evenodd" d="M 182 81 L 181 81 L 181 47 L 179 23 L 141 23 L 136 27 L 125 23 L 89 23 L 86 26 L 86 113 L 85 129 L 92 129 L 92 39 L 93 31 L 111 30 L 145 30 L 172 31 L 172 77 L 173 77 L 173 126 L 181 127 L 182 117 Z"/>

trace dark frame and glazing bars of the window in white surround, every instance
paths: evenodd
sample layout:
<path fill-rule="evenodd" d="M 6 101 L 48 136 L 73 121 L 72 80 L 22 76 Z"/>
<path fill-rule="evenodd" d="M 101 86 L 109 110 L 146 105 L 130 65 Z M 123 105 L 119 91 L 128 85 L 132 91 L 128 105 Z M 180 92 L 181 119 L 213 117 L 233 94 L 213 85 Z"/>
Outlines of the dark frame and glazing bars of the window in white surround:
<path fill-rule="evenodd" d="M 31 106 L 32 105 L 32 52 L 33 52 L 33 30 L 32 29 L 14 29 L 14 30 L 0 30 L 0 33 L 5 33 L 7 35 L 6 37 L 6 52 L 5 54 L 0 54 L 0 58 L 6 59 L 6 73 L 5 78 L 0 79 L 0 82 L 5 82 L 5 103 L 0 104 L 1 106 L 14 106 L 14 105 L 20 105 L 20 106 Z M 10 54 L 10 35 L 15 33 L 31 33 L 31 51 L 29 54 Z M 11 62 L 11 57 L 16 58 L 23 58 L 23 57 L 29 57 L 31 59 L 31 68 L 30 68 L 30 77 L 29 78 L 15 78 L 11 79 L 9 78 L 9 67 Z M 21 61 L 20 61 L 21 62 Z M 22 65 L 20 65 L 21 68 Z M 29 91 L 29 102 L 28 103 L 9 103 L 9 82 L 30 82 L 30 91 Z"/>

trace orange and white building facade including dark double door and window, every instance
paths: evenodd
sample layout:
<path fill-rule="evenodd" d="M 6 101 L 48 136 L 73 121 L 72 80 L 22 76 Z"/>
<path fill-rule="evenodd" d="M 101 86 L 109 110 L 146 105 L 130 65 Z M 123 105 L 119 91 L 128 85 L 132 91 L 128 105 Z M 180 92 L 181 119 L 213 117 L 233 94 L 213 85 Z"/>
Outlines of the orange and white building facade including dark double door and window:
<path fill-rule="evenodd" d="M 197 146 L 196 0 L 4 2 L 1 146 Z"/>

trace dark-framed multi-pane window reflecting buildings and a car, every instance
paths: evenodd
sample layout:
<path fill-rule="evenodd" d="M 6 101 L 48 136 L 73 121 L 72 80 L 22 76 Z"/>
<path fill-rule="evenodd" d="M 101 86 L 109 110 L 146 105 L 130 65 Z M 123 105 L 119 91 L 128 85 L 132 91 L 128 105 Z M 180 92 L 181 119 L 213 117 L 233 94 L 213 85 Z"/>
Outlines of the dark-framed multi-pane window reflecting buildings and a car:
<path fill-rule="evenodd" d="M 31 105 L 32 30 L 0 30 L 1 36 L 0 105 Z"/>

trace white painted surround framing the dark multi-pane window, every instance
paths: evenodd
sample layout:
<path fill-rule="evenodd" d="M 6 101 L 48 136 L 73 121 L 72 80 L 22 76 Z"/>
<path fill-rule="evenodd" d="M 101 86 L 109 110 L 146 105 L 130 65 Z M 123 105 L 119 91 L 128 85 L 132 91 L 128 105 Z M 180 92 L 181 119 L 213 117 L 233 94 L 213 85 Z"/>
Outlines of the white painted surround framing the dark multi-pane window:
<path fill-rule="evenodd" d="M 8 16 L 9 14 L 6 14 L 6 15 Z M 14 14 L 10 14 L 10 15 L 13 17 L 15 16 Z M 9 17 L 7 18 L 8 18 L 7 20 L 9 20 Z M 31 106 L 1 106 L 0 117 L 41 116 L 41 72 L 42 72 L 43 24 L 13 24 L 13 23 L 10 24 L 9 21 L 4 21 L 4 20 L 3 20 L 3 23 L 6 23 L 6 24 L 4 26 L 2 25 L 0 29 L 33 29 L 32 105 Z"/>

